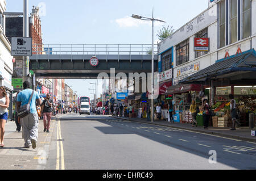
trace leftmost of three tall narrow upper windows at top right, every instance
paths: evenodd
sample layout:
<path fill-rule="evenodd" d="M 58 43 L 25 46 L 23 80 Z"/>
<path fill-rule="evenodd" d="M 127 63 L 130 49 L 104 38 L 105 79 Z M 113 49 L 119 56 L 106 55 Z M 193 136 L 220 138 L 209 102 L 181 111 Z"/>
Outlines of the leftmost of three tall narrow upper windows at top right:
<path fill-rule="evenodd" d="M 218 32 L 219 32 L 219 48 L 226 45 L 226 2 L 219 3 L 219 19 L 218 19 Z"/>

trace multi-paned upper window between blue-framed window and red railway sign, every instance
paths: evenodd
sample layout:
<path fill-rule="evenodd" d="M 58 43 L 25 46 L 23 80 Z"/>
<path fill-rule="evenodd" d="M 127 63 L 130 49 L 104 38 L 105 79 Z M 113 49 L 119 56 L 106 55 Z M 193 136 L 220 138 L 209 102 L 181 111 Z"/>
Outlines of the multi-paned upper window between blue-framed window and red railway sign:
<path fill-rule="evenodd" d="M 176 65 L 189 61 L 189 39 L 176 46 Z"/>

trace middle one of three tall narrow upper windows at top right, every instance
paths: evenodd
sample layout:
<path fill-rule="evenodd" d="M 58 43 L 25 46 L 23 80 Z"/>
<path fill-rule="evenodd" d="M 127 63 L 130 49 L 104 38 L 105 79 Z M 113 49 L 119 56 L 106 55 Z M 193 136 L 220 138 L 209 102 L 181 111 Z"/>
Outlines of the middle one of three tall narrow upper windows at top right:
<path fill-rule="evenodd" d="M 230 0 L 230 43 L 237 41 L 237 1 Z"/>

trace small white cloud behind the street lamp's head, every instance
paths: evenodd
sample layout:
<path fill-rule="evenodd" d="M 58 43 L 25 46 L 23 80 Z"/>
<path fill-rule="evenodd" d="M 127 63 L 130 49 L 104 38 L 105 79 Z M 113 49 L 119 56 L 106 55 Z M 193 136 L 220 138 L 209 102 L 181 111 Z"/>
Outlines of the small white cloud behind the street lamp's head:
<path fill-rule="evenodd" d="M 143 24 L 146 24 L 148 26 L 152 25 L 151 21 L 134 19 L 134 18 L 131 18 L 130 16 L 125 16 L 125 18 L 115 19 L 114 22 L 117 23 L 120 28 L 139 27 L 140 25 L 143 25 Z M 162 25 L 163 23 L 161 22 L 154 22 L 154 26 L 162 26 Z"/>

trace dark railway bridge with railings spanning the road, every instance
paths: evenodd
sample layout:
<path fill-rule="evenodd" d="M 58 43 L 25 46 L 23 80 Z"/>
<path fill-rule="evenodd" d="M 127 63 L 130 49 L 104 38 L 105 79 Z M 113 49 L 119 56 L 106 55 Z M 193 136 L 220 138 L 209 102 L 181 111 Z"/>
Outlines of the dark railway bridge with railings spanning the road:
<path fill-rule="evenodd" d="M 36 77 L 90 78 L 99 73 L 150 73 L 151 44 L 33 44 L 30 70 Z M 92 66 L 90 59 L 98 59 Z M 158 69 L 158 46 L 154 45 L 154 68 Z"/>

